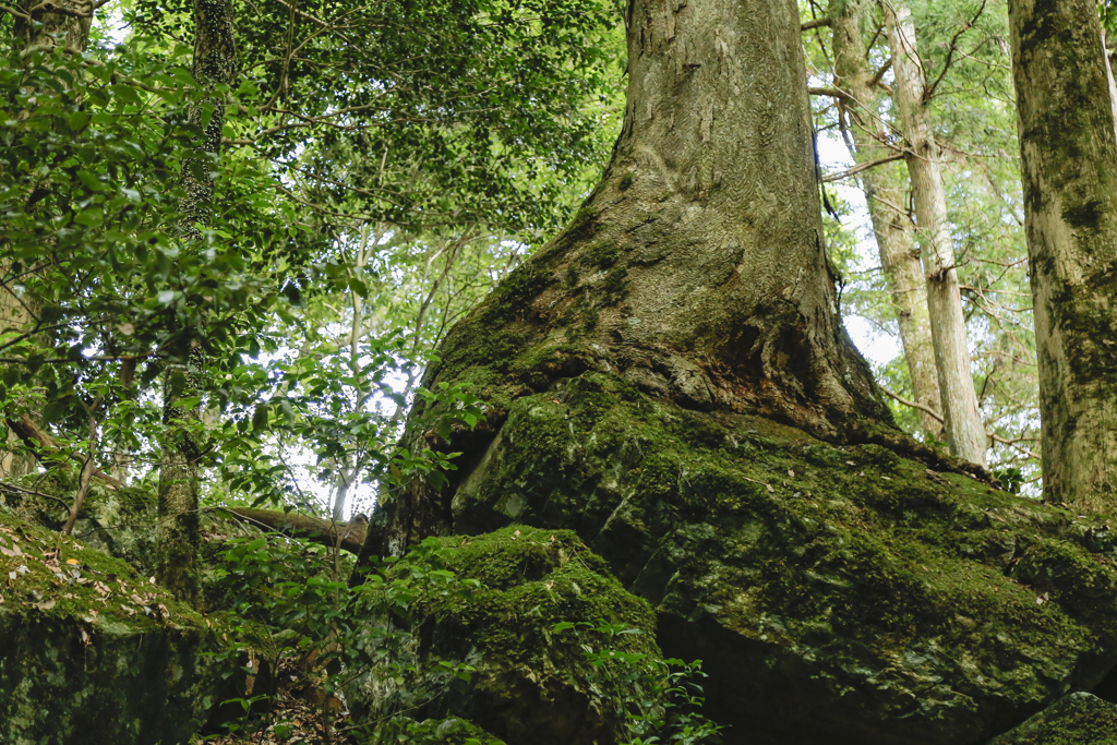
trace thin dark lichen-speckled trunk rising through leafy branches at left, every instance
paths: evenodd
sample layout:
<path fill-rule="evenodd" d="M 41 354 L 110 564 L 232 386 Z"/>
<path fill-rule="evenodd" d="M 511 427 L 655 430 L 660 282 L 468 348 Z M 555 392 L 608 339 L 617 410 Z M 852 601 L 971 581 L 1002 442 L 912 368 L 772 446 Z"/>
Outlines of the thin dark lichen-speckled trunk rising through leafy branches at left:
<path fill-rule="evenodd" d="M 237 75 L 237 49 L 231 0 L 194 0 L 194 79 L 210 87 L 231 85 Z M 225 124 L 225 94 L 216 93 L 208 102 L 213 107 L 199 151 L 201 156 L 183 164 L 180 183 L 185 197 L 180 209 L 183 238 L 201 238 L 201 228 L 210 223 L 213 204 L 217 159 L 221 153 Z M 203 108 L 190 111 L 190 121 L 199 126 Z M 170 431 L 163 442 L 159 474 L 160 582 L 180 599 L 198 598 L 198 490 L 202 443 L 201 409 L 180 402 L 201 390 L 206 369 L 202 347 L 182 351 L 184 362 L 169 364 L 163 383 L 163 419 Z M 181 357 L 180 357 L 181 359 Z"/>

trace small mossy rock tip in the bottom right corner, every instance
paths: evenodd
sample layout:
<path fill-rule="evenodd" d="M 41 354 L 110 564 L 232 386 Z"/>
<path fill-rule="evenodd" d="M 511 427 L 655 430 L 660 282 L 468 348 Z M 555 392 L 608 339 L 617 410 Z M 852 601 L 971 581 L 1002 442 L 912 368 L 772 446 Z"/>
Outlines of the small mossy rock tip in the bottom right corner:
<path fill-rule="evenodd" d="M 1117 745 L 1117 706 L 1071 694 L 989 745 Z"/>

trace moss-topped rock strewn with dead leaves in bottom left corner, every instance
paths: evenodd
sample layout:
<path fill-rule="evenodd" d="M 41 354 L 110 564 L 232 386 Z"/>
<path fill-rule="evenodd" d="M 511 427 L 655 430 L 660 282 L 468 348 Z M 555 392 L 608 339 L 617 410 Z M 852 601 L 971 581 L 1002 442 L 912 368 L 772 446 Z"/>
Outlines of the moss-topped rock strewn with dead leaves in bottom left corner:
<path fill-rule="evenodd" d="M 0 742 L 185 743 L 209 624 L 108 556 L 0 512 Z"/>

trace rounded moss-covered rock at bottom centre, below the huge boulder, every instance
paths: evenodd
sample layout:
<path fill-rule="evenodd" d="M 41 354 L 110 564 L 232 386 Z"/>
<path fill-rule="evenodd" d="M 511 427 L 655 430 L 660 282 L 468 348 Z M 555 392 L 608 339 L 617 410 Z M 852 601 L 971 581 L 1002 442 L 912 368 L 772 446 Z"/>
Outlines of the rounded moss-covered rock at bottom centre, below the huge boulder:
<path fill-rule="evenodd" d="M 430 672 L 407 684 L 424 697 L 408 714 L 417 720 L 460 717 L 509 743 L 627 742 L 621 701 L 632 698 L 633 681 L 594 666 L 583 646 L 659 658 L 651 634 L 555 627 L 602 621 L 650 630 L 651 608 L 609 576 L 604 562 L 570 531 L 508 527 L 439 543 L 455 548 L 447 569 L 481 585 L 412 605 L 419 625 L 411 661 Z M 440 660 L 474 667 L 468 684 L 447 675 Z M 416 707 L 402 685 L 384 670 L 363 676 L 347 691 L 354 718 L 385 720 Z"/>

